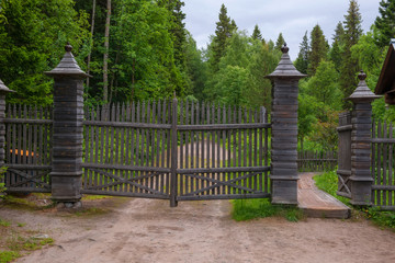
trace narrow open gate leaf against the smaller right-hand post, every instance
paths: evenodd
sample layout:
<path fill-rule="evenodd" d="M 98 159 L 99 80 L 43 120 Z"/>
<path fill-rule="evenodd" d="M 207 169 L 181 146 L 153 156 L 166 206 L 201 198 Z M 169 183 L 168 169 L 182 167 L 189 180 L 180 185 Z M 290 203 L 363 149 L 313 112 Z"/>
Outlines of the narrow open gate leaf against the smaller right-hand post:
<path fill-rule="evenodd" d="M 351 113 L 345 112 L 339 115 L 338 146 L 338 191 L 337 194 L 351 198 Z"/>

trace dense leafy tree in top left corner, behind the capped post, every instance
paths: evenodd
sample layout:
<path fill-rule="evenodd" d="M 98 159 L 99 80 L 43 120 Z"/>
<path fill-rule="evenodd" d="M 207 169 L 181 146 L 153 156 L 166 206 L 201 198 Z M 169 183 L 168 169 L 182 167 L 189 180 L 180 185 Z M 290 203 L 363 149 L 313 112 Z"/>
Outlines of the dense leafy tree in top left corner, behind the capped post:
<path fill-rule="evenodd" d="M 8 102 L 49 105 L 53 82 L 43 72 L 58 65 L 68 41 L 84 69 L 90 38 L 87 13 L 77 13 L 72 0 L 3 0 L 0 16 L 0 76 L 18 92 Z"/>

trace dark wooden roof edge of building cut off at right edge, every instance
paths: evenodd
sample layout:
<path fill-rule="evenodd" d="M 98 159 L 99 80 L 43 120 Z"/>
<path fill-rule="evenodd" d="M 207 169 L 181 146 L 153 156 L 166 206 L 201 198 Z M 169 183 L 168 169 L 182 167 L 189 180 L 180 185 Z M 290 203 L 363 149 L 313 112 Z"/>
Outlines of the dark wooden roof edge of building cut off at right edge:
<path fill-rule="evenodd" d="M 385 103 L 395 104 L 395 39 L 391 39 L 374 93 L 385 95 Z"/>

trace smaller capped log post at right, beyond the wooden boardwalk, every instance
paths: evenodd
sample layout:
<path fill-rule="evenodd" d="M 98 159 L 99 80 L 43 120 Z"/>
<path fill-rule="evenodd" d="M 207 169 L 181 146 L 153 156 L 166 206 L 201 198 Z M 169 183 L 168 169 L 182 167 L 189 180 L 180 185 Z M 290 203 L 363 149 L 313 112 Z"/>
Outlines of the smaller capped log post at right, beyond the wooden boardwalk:
<path fill-rule="evenodd" d="M 371 139 L 372 105 L 375 95 L 368 87 L 366 75 L 361 70 L 360 82 L 356 91 L 348 98 L 353 102 L 351 132 L 351 201 L 352 205 L 371 205 Z"/>

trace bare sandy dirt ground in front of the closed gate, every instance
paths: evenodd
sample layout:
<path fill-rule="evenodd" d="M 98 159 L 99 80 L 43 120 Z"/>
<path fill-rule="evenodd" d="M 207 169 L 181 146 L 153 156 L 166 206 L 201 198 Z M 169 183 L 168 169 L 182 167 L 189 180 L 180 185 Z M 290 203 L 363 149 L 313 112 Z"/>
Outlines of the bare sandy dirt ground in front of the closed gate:
<path fill-rule="evenodd" d="M 104 204 L 109 205 L 109 204 Z M 395 233 L 364 219 L 236 222 L 228 201 L 128 199 L 94 217 L 0 208 L 55 245 L 16 262 L 395 262 Z"/>

